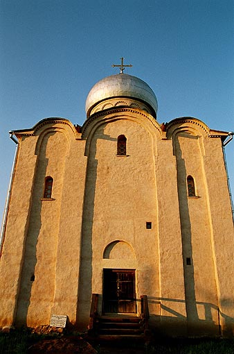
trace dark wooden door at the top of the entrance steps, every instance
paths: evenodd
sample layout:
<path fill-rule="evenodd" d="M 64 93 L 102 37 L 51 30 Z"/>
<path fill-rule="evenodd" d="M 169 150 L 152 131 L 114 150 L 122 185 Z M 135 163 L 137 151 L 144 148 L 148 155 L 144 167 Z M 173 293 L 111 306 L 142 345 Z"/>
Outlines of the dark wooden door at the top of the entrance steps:
<path fill-rule="evenodd" d="M 135 271 L 104 269 L 104 312 L 136 312 Z"/>

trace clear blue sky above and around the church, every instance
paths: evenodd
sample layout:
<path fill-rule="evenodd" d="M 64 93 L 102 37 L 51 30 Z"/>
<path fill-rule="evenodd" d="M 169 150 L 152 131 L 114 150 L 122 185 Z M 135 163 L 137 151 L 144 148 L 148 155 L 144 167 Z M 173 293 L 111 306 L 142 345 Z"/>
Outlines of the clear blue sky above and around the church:
<path fill-rule="evenodd" d="M 197 117 L 234 130 L 233 0 L 1 0 L 0 213 L 15 153 L 8 131 L 45 117 L 85 120 L 91 87 L 118 73 L 146 81 L 158 121 Z M 226 146 L 234 193 L 234 140 Z"/>

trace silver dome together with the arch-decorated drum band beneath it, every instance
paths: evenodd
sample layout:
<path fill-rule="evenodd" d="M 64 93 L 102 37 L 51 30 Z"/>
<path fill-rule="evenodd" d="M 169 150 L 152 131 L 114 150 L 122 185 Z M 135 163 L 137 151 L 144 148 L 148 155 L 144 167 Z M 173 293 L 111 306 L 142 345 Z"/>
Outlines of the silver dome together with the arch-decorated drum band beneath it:
<path fill-rule="evenodd" d="M 128 74 L 102 78 L 94 85 L 86 100 L 87 118 L 93 113 L 117 106 L 132 106 L 147 110 L 156 117 L 158 103 L 152 89 L 145 81 Z"/>

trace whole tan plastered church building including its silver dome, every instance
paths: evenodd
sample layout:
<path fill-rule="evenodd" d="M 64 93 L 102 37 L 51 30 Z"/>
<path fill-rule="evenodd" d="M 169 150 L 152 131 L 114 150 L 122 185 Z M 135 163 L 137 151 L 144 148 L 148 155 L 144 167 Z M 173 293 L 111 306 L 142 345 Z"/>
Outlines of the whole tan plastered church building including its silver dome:
<path fill-rule="evenodd" d="M 224 165 L 228 133 L 199 119 L 156 120 L 154 92 L 109 76 L 87 119 L 48 118 L 19 144 L 3 226 L 0 326 L 87 328 L 98 314 L 140 312 L 170 335 L 234 330 L 234 234 Z"/>

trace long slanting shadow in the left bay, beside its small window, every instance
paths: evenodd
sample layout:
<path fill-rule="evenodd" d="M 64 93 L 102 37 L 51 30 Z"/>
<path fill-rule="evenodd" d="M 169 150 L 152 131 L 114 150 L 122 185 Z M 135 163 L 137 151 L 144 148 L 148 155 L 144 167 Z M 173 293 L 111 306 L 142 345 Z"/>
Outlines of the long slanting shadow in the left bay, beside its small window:
<path fill-rule="evenodd" d="M 35 266 L 37 264 L 37 240 L 42 227 L 41 212 L 44 192 L 44 180 L 46 177 L 46 167 L 48 159 L 46 158 L 46 146 L 48 138 L 55 133 L 44 137 L 43 149 L 37 157 L 37 166 L 33 181 L 33 193 L 30 199 L 30 210 L 28 212 L 28 231 L 26 243 L 24 246 L 24 263 L 21 270 L 21 281 L 19 287 L 19 296 L 17 301 L 17 310 L 15 316 L 16 326 L 27 325 L 28 307 L 30 306 L 30 297 L 33 282 L 35 278 Z M 27 229 L 27 226 L 25 227 Z"/>

